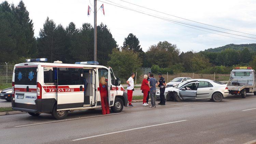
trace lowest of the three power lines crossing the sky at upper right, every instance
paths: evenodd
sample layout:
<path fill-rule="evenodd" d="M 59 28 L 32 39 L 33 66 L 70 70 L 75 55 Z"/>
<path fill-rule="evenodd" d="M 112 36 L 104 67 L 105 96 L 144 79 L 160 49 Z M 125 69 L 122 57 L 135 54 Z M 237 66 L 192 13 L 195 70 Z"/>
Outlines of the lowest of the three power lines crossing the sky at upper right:
<path fill-rule="evenodd" d="M 100 1 L 100 0 L 98 0 L 98 1 Z M 101 2 L 104 2 L 104 1 L 101 1 Z M 111 4 L 111 3 L 108 3 L 108 2 L 105 2 L 105 3 L 110 4 L 110 5 L 114 5 L 114 4 Z M 133 10 L 133 9 L 130 9 L 130 8 L 125 8 L 124 6 L 118 6 L 118 5 L 114 5 L 114 6 L 117 6 L 119 8 L 123 8 L 123 9 L 127 9 L 127 10 L 130 10 L 130 11 L 142 13 L 142 14 L 145 14 L 145 15 L 153 16 L 155 18 L 159 18 L 159 19 L 162 19 L 162 20 L 165 20 L 165 21 L 169 21 L 169 22 L 177 24 L 177 25 L 185 26 L 185 25 L 182 25 L 182 24 L 178 24 L 177 22 L 173 22 L 173 20 L 169 20 L 169 19 L 158 17 L 158 16 L 146 14 L 146 13 L 143 13 L 143 12 L 140 12 L 140 11 L 137 11 L 137 10 Z M 185 27 L 189 27 L 189 26 L 185 26 Z M 196 26 L 196 27 L 198 27 L 198 26 Z M 189 28 L 193 28 L 193 27 L 189 27 Z M 199 28 L 201 28 L 201 27 L 199 27 Z M 209 31 L 205 31 L 205 30 L 201 30 L 201 29 L 197 29 L 197 28 L 193 28 L 193 29 L 204 31 L 204 32 L 209 32 Z M 218 34 L 218 33 L 214 33 L 214 32 L 209 32 L 209 33 Z M 225 36 L 225 37 L 230 37 L 228 35 L 223 35 L 223 34 L 218 34 L 218 35 L 222 35 L 222 36 Z M 241 38 L 236 38 L 236 37 L 230 37 L 230 38 L 241 39 Z M 247 40 L 247 39 L 241 39 L 241 40 Z M 254 40 L 247 40 L 247 41 L 254 41 Z"/>

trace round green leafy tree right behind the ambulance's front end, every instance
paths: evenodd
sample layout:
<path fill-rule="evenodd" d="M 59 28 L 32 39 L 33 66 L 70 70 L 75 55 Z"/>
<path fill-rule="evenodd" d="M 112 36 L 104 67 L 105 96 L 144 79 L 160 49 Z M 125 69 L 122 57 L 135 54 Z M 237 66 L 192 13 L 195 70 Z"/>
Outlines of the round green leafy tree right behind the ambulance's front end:
<path fill-rule="evenodd" d="M 112 67 L 115 74 L 120 78 L 128 78 L 131 72 L 136 72 L 142 65 L 138 53 L 134 53 L 131 50 L 118 51 L 113 49 L 109 57 L 108 65 Z"/>

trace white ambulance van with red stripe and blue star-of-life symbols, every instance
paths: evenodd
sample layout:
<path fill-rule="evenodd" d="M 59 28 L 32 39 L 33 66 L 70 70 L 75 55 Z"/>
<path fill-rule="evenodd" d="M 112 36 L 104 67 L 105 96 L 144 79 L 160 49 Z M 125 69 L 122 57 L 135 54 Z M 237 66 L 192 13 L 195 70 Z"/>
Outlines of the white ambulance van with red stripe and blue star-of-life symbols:
<path fill-rule="evenodd" d="M 121 112 L 127 106 L 127 93 L 111 67 L 99 66 L 95 61 L 75 64 L 46 63 L 46 58 L 26 61 L 14 66 L 13 110 L 32 116 L 49 113 L 55 119 L 64 119 L 70 111 L 101 108 L 99 79 L 102 76 L 108 83 L 112 112 Z"/>

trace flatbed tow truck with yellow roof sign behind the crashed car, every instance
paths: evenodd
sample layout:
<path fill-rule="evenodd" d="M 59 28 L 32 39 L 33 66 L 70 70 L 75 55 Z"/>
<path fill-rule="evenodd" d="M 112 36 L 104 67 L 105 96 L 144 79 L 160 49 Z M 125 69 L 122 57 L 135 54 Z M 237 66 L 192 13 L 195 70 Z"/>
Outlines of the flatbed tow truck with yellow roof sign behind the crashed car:
<path fill-rule="evenodd" d="M 230 73 L 227 83 L 228 91 L 231 95 L 241 95 L 246 98 L 246 93 L 256 95 L 256 75 L 252 67 L 236 67 Z"/>

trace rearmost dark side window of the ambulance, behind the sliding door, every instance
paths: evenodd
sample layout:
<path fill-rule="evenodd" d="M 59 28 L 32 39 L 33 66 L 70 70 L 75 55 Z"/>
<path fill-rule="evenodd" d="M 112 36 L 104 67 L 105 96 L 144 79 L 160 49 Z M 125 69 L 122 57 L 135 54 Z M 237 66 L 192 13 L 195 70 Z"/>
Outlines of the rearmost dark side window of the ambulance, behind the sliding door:
<path fill-rule="evenodd" d="M 44 67 L 44 83 L 57 83 L 57 68 Z"/>

